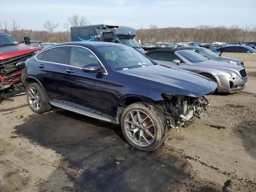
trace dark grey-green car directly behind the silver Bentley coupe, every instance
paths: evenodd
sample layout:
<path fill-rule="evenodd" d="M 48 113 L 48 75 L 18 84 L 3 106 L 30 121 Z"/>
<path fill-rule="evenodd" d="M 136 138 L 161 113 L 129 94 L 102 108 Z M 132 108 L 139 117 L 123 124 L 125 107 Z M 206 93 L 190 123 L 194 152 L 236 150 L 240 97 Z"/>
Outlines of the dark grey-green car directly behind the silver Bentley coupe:
<path fill-rule="evenodd" d="M 225 56 L 218 56 L 216 53 L 210 51 L 207 48 L 203 47 L 181 47 L 179 48 L 181 50 L 192 50 L 205 58 L 208 58 L 209 60 L 213 61 L 219 61 L 219 62 L 226 62 L 226 63 L 231 63 L 231 64 L 236 64 L 244 67 L 244 62 L 241 59 L 233 58 L 233 57 L 225 57 Z"/>

